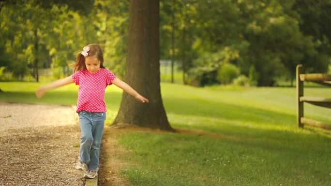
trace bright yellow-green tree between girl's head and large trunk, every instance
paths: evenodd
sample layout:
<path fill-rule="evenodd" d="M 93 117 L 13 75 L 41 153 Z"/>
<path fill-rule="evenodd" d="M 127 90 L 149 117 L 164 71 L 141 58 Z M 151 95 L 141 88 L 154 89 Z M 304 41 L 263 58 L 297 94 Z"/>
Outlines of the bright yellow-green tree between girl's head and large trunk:
<path fill-rule="evenodd" d="M 123 77 L 128 39 L 129 1 L 96 0 L 93 26 L 104 49 L 104 65 Z"/>

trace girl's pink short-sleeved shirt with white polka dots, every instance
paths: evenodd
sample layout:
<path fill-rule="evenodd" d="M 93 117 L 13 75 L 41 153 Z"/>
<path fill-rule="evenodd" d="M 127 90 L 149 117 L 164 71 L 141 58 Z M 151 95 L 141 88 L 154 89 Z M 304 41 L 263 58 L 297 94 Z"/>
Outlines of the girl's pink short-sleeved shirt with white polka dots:
<path fill-rule="evenodd" d="M 79 85 L 76 112 L 106 112 L 105 88 L 112 84 L 116 76 L 109 70 L 100 68 L 95 73 L 79 70 L 71 77 Z"/>

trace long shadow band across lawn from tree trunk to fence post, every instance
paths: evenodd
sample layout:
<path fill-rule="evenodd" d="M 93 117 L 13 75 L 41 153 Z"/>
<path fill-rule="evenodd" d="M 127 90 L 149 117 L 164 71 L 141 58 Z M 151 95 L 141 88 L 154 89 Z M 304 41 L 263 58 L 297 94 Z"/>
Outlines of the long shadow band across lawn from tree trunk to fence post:
<path fill-rule="evenodd" d="M 167 113 L 181 115 L 198 115 L 228 120 L 254 121 L 276 125 L 293 125 L 296 115 L 257 109 L 249 106 L 217 103 L 210 100 L 193 100 L 179 98 L 164 98 Z M 272 107 L 272 105 L 271 105 Z"/>

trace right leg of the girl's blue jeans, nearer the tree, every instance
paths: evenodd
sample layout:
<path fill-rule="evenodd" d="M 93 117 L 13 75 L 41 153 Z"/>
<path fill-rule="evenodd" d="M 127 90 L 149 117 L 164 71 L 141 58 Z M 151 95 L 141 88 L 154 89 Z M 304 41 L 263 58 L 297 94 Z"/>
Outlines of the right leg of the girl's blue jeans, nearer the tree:
<path fill-rule="evenodd" d="M 92 114 L 92 136 L 93 142 L 91 146 L 90 163 L 88 169 L 96 170 L 99 167 L 99 154 L 101 139 L 104 132 L 105 113 Z"/>

